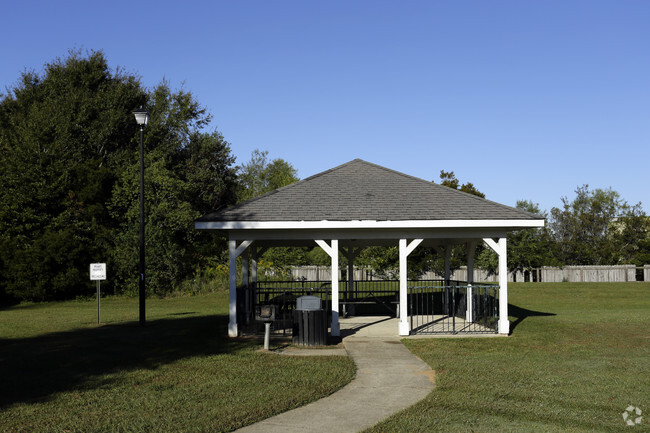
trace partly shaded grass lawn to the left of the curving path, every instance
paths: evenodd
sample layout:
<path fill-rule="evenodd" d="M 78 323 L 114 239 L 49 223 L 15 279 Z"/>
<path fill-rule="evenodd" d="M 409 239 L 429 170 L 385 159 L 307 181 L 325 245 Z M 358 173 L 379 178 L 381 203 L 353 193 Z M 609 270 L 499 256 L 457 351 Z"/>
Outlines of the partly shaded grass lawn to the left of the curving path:
<path fill-rule="evenodd" d="M 219 432 L 331 394 L 346 357 L 260 353 L 224 337 L 227 294 L 0 310 L 0 432 Z"/>

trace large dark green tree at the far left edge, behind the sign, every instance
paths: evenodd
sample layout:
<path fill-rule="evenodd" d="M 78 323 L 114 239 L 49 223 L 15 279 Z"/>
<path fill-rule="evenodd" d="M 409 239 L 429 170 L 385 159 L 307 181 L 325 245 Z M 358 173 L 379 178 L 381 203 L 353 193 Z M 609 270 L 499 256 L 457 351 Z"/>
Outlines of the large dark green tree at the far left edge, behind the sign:
<path fill-rule="evenodd" d="M 114 226 L 105 206 L 135 148 L 137 80 L 101 53 L 22 75 L 0 101 L 0 283 L 20 299 L 87 293 L 87 266 Z"/>

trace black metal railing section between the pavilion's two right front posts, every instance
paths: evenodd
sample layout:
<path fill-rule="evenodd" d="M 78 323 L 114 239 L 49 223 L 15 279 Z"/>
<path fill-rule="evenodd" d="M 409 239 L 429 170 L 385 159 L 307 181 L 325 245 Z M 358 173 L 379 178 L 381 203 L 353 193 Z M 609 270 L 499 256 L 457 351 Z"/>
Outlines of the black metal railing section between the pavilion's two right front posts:
<path fill-rule="evenodd" d="M 409 286 L 410 333 L 496 333 L 498 294 L 497 285 Z"/>

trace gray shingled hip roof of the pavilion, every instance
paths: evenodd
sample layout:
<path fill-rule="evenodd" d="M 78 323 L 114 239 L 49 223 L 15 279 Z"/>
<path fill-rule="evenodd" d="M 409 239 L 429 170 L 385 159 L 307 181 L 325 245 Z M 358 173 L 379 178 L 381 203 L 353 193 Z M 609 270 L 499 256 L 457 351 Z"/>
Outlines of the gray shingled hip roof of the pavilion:
<path fill-rule="evenodd" d="M 533 219 L 542 217 L 355 159 L 197 222 Z"/>

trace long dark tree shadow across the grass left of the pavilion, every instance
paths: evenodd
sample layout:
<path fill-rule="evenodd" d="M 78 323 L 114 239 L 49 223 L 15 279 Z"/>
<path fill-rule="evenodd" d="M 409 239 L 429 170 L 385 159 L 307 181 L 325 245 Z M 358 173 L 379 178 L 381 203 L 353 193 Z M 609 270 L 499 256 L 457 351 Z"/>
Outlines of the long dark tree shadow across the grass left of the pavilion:
<path fill-rule="evenodd" d="M 97 385 L 100 376 L 156 369 L 183 358 L 235 352 L 251 342 L 228 339 L 226 316 L 105 325 L 33 338 L 0 339 L 0 410 L 14 403 Z"/>

